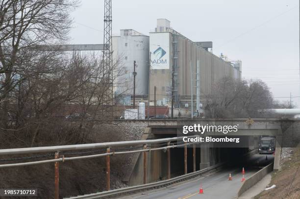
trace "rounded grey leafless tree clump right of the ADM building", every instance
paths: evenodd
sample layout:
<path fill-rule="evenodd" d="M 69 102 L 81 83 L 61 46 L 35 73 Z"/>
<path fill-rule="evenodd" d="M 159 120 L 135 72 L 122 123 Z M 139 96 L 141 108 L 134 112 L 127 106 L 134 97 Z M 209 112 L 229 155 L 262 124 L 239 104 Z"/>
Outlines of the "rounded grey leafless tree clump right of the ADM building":
<path fill-rule="evenodd" d="M 261 80 L 237 80 L 229 77 L 213 85 L 205 116 L 212 118 L 260 117 L 261 110 L 271 108 L 272 93 Z"/>

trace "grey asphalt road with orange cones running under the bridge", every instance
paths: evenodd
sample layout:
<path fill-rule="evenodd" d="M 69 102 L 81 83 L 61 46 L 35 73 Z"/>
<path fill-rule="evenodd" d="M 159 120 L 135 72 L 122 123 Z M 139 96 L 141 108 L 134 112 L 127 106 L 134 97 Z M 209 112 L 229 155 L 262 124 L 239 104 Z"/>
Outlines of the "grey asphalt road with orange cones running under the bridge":
<path fill-rule="evenodd" d="M 274 160 L 273 155 L 254 154 L 244 163 L 247 179 L 252 174 L 260 170 L 261 166 L 268 165 Z M 228 180 L 231 173 L 232 180 Z M 240 166 L 231 166 L 220 172 L 206 174 L 196 179 L 171 185 L 167 188 L 147 191 L 122 199 L 234 199 L 242 185 L 242 168 Z M 200 186 L 203 188 L 203 194 L 199 194 Z"/>

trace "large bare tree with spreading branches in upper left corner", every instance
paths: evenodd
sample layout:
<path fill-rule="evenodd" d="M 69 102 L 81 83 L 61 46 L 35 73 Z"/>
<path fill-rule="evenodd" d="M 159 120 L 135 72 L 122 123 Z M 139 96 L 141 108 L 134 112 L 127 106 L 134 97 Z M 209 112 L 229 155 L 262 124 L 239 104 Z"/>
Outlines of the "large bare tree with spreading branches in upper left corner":
<path fill-rule="evenodd" d="M 0 2 L 0 110 L 3 126 L 7 126 L 11 93 L 29 76 L 51 72 L 51 68 L 41 69 L 39 61 L 51 59 L 53 53 L 40 53 L 32 48 L 66 41 L 71 27 L 70 11 L 76 5 L 77 0 Z"/>

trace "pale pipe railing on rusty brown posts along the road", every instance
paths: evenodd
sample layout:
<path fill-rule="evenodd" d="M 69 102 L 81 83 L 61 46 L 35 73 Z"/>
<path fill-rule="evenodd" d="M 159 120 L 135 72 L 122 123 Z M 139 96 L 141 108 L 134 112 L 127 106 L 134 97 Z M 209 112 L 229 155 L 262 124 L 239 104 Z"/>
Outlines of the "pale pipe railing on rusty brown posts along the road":
<path fill-rule="evenodd" d="M 196 136 L 189 136 L 196 137 Z M 81 145 L 66 145 L 66 146 L 52 146 L 52 147 L 34 147 L 34 148 L 19 148 L 19 149 L 0 149 L 0 156 L 2 155 L 32 155 L 36 153 L 54 153 L 54 159 L 47 160 L 39 160 L 39 161 L 30 161 L 30 162 L 21 162 L 21 163 L 10 163 L 10 164 L 0 164 L 1 168 L 7 167 L 20 167 L 20 166 L 28 166 L 28 165 L 38 165 L 38 164 L 47 164 L 54 163 L 54 174 L 55 174 L 55 182 L 54 182 L 54 198 L 59 199 L 59 163 L 70 161 L 70 160 L 79 160 L 79 159 L 87 159 L 87 158 L 97 158 L 97 157 L 106 157 L 106 190 L 110 190 L 110 158 L 112 155 L 121 155 L 121 154 L 129 154 L 129 153 L 140 153 L 143 152 L 144 159 L 144 184 L 147 183 L 147 166 L 148 166 L 148 152 L 155 150 L 166 150 L 167 152 L 167 174 L 168 179 L 171 178 L 171 157 L 170 150 L 172 148 L 184 148 L 184 173 L 187 174 L 187 146 L 193 145 L 193 171 L 196 172 L 196 142 L 183 142 L 183 137 L 174 137 L 174 138 L 164 138 L 164 139 L 155 139 L 155 140 L 138 140 L 138 141 L 123 141 L 123 142 L 108 142 L 108 143 L 95 143 L 95 144 L 81 144 Z M 180 141 L 180 142 L 178 142 Z M 163 147 L 155 147 L 151 146 L 153 144 L 160 144 L 158 146 L 162 146 L 162 143 L 165 144 Z M 122 151 L 114 151 L 114 148 L 117 147 L 126 147 L 130 146 L 130 148 L 121 149 Z M 132 146 L 143 146 L 142 148 L 132 148 Z M 65 156 L 68 153 L 65 151 L 79 151 L 79 150 L 87 150 L 87 149 L 102 149 L 102 153 L 97 152 L 92 155 L 79 155 L 67 157 Z M 95 151 L 87 151 L 87 152 L 78 152 L 78 153 L 70 153 L 70 154 L 84 154 L 84 153 L 92 153 Z M 63 154 L 63 155 L 61 155 Z M 45 157 L 45 156 L 40 156 Z M 11 158 L 7 159 L 7 161 L 15 161 L 27 159 L 24 158 Z"/>

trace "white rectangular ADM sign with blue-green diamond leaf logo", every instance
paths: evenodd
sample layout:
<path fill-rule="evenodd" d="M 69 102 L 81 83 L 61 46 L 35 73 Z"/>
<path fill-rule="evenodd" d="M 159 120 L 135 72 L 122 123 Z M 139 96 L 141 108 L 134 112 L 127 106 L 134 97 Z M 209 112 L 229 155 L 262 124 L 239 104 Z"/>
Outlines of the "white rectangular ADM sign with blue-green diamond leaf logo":
<path fill-rule="evenodd" d="M 151 69 L 170 69 L 170 33 L 150 33 Z"/>

